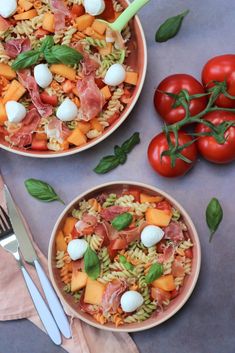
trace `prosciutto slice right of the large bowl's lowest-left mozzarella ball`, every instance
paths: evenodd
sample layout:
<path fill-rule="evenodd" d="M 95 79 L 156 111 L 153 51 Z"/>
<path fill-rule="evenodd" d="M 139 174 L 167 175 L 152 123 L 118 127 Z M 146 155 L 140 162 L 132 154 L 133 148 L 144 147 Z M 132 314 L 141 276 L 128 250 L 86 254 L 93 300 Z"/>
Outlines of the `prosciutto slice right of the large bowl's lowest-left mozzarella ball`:
<path fill-rule="evenodd" d="M 9 136 L 10 142 L 19 148 L 29 146 L 32 143 L 32 134 L 37 130 L 40 119 L 35 108 L 30 110 L 22 120 L 21 128 Z"/>

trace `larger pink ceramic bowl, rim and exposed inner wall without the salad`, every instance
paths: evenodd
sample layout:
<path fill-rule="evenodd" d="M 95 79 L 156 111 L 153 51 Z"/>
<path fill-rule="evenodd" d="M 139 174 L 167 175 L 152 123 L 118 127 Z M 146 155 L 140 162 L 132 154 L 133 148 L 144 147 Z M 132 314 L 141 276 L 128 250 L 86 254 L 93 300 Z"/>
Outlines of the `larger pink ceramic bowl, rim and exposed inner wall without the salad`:
<path fill-rule="evenodd" d="M 119 0 L 123 7 L 127 7 L 129 4 L 128 0 Z M 97 138 L 91 140 L 87 144 L 70 148 L 66 151 L 61 152 L 53 152 L 53 151 L 46 151 L 46 152 L 38 152 L 32 150 L 23 150 L 17 147 L 11 147 L 9 144 L 4 140 L 3 137 L 0 136 L 0 147 L 4 150 L 20 154 L 22 156 L 27 157 L 36 157 L 36 158 L 56 158 L 56 157 L 64 157 L 69 156 L 78 152 L 82 152 L 91 148 L 98 144 L 99 142 L 103 141 L 104 139 L 108 138 L 123 122 L 131 113 L 132 109 L 134 108 L 140 93 L 143 88 L 145 76 L 146 76 L 146 69 L 147 69 L 147 47 L 146 47 L 146 40 L 142 25 L 140 20 L 137 16 L 135 16 L 134 20 L 130 23 L 131 30 L 132 30 L 132 38 L 133 41 L 130 41 L 131 54 L 128 57 L 127 65 L 131 65 L 131 67 L 138 71 L 139 79 L 138 83 L 135 87 L 134 94 L 132 96 L 131 101 L 127 104 L 126 108 L 120 115 L 120 117 L 111 125 L 109 126 L 102 135 L 98 136 Z M 133 44 L 134 43 L 134 44 Z"/>

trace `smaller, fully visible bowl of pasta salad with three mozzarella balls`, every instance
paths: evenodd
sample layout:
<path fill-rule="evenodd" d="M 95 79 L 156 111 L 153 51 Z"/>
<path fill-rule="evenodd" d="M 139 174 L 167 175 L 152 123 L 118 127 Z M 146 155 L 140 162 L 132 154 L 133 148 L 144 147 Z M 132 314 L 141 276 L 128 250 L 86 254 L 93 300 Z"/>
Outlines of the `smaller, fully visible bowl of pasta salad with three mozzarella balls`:
<path fill-rule="evenodd" d="M 112 331 L 173 316 L 196 285 L 201 250 L 184 208 L 142 183 L 114 182 L 76 197 L 49 244 L 49 272 L 70 313 Z"/>

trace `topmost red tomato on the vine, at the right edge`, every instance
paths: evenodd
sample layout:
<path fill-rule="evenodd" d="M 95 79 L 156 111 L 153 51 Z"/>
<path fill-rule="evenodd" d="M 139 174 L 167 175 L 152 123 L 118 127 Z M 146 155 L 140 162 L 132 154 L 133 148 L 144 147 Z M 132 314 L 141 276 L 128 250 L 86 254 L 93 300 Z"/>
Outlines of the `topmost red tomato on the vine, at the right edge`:
<path fill-rule="evenodd" d="M 202 70 L 202 82 L 206 88 L 214 86 L 212 81 L 226 81 L 227 92 L 235 96 L 235 55 L 220 55 L 210 59 Z M 220 94 L 215 104 L 223 108 L 235 108 L 235 100 Z"/>

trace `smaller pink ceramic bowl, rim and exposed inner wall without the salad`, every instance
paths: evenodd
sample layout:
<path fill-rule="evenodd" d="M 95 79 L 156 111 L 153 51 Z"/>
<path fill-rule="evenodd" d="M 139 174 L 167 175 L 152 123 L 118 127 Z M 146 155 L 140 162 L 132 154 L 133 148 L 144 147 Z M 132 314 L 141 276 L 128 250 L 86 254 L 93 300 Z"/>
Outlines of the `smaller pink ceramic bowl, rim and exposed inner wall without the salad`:
<path fill-rule="evenodd" d="M 59 271 L 56 268 L 56 260 L 55 260 L 55 237 L 57 234 L 57 231 L 62 228 L 63 222 L 66 218 L 66 216 L 71 212 L 71 210 L 74 208 L 74 206 L 81 201 L 82 199 L 86 198 L 92 198 L 94 196 L 97 196 L 98 194 L 102 192 L 117 192 L 118 190 L 122 190 L 123 187 L 125 189 L 133 189 L 134 188 L 139 188 L 142 192 L 147 192 L 150 194 L 157 194 L 157 195 L 162 195 L 164 198 L 170 201 L 170 203 L 175 206 L 182 214 L 183 219 L 188 227 L 188 231 L 190 234 L 190 237 L 194 243 L 193 247 L 193 259 L 192 259 L 192 271 L 191 274 L 186 277 L 184 286 L 182 288 L 182 292 L 179 294 L 178 297 L 172 300 L 172 302 L 167 306 L 166 310 L 164 312 L 160 312 L 157 315 L 154 315 L 153 317 L 150 317 L 148 320 L 140 322 L 140 323 L 134 323 L 134 324 L 125 324 L 122 326 L 119 326 L 118 328 L 115 327 L 114 324 L 106 324 L 106 325 L 100 325 L 97 323 L 90 315 L 82 312 L 81 310 L 77 309 L 77 305 L 73 301 L 73 297 L 64 293 L 63 292 L 63 283 L 61 283 L 60 276 L 59 276 Z M 188 213 L 185 211 L 185 209 L 170 195 L 168 195 L 166 192 L 163 192 L 162 190 L 155 188 L 150 185 L 142 184 L 142 183 L 135 183 L 135 182 L 128 182 L 128 181 L 120 181 L 120 182 L 112 182 L 112 183 L 107 183 L 103 184 L 100 186 L 97 186 L 95 188 L 92 188 L 83 194 L 77 196 L 62 212 L 60 215 L 59 219 L 57 220 L 52 235 L 50 239 L 50 244 L 49 244 L 49 253 L 48 253 L 48 263 L 49 263 L 49 273 L 50 273 L 50 278 L 51 281 L 54 285 L 54 288 L 61 299 L 61 301 L 69 308 L 70 312 L 74 317 L 77 317 L 86 323 L 103 329 L 103 330 L 108 330 L 108 331 L 118 331 L 118 332 L 136 332 L 136 331 L 143 331 L 149 328 L 152 328 L 154 326 L 157 326 L 161 324 L 162 322 L 168 320 L 170 317 L 172 317 L 178 310 L 182 308 L 182 306 L 186 303 L 186 301 L 189 299 L 190 295 L 193 292 L 193 289 L 196 285 L 198 276 L 199 276 L 199 271 L 200 271 L 200 266 L 201 266 L 201 247 L 200 247 L 200 242 L 198 238 L 197 231 L 193 225 L 193 222 L 188 215 Z"/>

